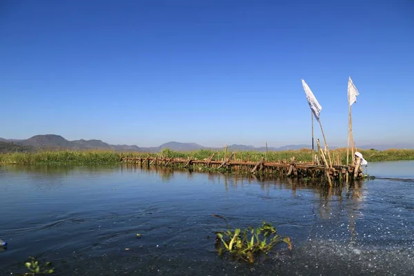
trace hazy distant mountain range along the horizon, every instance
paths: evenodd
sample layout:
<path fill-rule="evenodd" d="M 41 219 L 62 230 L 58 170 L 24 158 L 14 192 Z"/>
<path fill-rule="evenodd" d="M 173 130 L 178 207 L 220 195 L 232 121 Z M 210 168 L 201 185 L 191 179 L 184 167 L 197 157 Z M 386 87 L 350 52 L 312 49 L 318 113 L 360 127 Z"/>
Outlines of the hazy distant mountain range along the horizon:
<path fill-rule="evenodd" d="M 201 150 L 201 149 L 222 149 L 201 146 L 195 143 L 180 143 L 176 141 L 170 141 L 166 144 L 162 144 L 156 147 L 139 147 L 136 145 L 112 145 L 105 143 L 104 141 L 92 139 L 92 140 L 74 140 L 69 141 L 60 135 L 35 135 L 29 139 L 3 139 L 0 138 L 0 152 L 5 151 L 30 151 L 37 149 L 72 149 L 72 150 L 88 150 L 88 149 L 102 149 L 102 150 L 116 150 L 116 151 L 137 151 L 137 152 L 159 152 L 163 148 L 169 148 L 170 150 L 177 151 L 190 151 L 190 150 Z M 299 144 L 299 145 L 287 145 L 278 148 L 268 147 L 270 151 L 281 151 L 281 150 L 299 150 L 301 148 L 311 148 L 311 145 Z M 335 147 L 331 147 L 335 148 Z M 393 145 L 365 145 L 358 146 L 362 149 L 375 148 L 376 150 L 385 150 L 387 148 L 414 148 L 414 144 L 393 144 Z M 237 145 L 233 144 L 228 146 L 228 150 L 257 150 L 265 151 L 266 147 L 256 148 L 254 146 Z"/>

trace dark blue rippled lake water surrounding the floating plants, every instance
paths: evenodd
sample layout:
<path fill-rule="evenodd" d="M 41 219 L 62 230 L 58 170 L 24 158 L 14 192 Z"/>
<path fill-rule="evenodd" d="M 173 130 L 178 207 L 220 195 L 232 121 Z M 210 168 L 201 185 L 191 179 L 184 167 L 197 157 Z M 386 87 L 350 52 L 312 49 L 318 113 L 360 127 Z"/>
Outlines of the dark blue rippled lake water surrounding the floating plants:
<path fill-rule="evenodd" d="M 347 193 L 125 165 L 0 166 L 0 275 L 26 272 L 28 256 L 56 275 L 414 275 L 414 162 L 366 170 L 378 178 Z M 213 213 L 242 228 L 266 220 L 293 250 L 253 265 L 218 257 Z"/>

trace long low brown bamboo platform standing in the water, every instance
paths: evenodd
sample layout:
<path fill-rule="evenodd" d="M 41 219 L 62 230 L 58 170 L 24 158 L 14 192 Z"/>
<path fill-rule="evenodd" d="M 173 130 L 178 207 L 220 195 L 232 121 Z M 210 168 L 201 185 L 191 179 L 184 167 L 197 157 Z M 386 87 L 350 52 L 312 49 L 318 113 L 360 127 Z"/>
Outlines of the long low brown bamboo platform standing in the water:
<path fill-rule="evenodd" d="M 234 153 L 230 157 L 221 160 L 213 159 L 213 155 L 208 159 L 181 159 L 168 157 L 124 157 L 121 155 L 120 161 L 125 164 L 139 166 L 164 166 L 171 168 L 190 168 L 197 170 L 226 170 L 229 172 L 246 172 L 250 174 L 277 174 L 280 177 L 308 177 L 311 179 L 325 180 L 332 186 L 333 181 L 344 181 L 346 175 L 350 179 L 362 179 L 363 174 L 360 166 L 343 166 L 335 164 L 333 166 L 317 165 L 312 162 L 298 162 L 295 157 L 290 161 L 281 160 L 277 162 L 264 161 L 243 161 L 233 159 Z M 357 171 L 355 171 L 357 170 Z M 329 177 L 329 179 L 328 179 Z"/>

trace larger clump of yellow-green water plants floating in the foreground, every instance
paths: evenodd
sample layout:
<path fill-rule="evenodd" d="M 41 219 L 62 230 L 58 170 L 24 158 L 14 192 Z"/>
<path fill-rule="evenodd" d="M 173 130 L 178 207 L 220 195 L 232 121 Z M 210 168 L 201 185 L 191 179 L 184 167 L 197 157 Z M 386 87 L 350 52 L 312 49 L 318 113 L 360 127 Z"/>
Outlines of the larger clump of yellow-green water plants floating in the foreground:
<path fill-rule="evenodd" d="M 240 228 L 232 230 L 228 222 L 221 215 L 214 215 L 226 222 L 227 230 L 216 232 L 216 248 L 219 255 L 230 253 L 237 259 L 242 259 L 246 262 L 253 263 L 257 259 L 259 253 L 267 254 L 274 246 L 280 243 L 285 243 L 289 250 L 292 250 L 292 243 L 289 237 L 278 235 L 276 228 L 271 224 L 263 221 L 262 227 L 248 228 L 243 231 Z"/>

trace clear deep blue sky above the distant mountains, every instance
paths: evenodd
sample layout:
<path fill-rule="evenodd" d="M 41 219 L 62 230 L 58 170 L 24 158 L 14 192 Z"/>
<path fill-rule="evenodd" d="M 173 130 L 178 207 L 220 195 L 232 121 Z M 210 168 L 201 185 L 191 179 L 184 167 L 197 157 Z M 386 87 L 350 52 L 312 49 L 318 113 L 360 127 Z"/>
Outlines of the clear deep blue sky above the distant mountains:
<path fill-rule="evenodd" d="M 414 141 L 413 1 L 0 1 L 0 137 Z M 322 140 L 315 121 L 315 138 Z"/>

